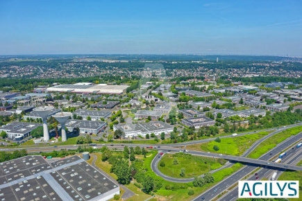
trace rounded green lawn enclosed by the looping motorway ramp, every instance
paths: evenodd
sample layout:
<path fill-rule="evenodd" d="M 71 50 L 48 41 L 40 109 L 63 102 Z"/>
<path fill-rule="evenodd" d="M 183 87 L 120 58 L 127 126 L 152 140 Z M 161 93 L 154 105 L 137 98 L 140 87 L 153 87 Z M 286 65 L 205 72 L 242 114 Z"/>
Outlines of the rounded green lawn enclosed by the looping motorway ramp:
<path fill-rule="evenodd" d="M 178 164 L 174 164 L 174 159 L 178 160 Z M 224 159 L 212 159 L 210 157 L 197 157 L 193 155 L 185 155 L 184 153 L 176 153 L 175 155 L 164 155 L 160 161 L 165 162 L 162 167 L 158 164 L 158 169 L 169 177 L 190 178 L 196 175 L 208 173 L 211 170 L 220 168 L 226 163 Z M 185 168 L 185 176 L 181 177 L 181 168 Z"/>

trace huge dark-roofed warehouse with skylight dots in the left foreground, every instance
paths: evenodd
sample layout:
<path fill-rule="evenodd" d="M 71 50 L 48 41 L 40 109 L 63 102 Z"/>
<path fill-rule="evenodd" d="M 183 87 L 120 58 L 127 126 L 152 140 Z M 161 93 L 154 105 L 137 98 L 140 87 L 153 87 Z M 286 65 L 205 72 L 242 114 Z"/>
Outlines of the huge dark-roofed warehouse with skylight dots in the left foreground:
<path fill-rule="evenodd" d="M 118 184 L 77 155 L 53 162 L 26 156 L 0 167 L 1 200 L 105 201 L 119 194 Z"/>

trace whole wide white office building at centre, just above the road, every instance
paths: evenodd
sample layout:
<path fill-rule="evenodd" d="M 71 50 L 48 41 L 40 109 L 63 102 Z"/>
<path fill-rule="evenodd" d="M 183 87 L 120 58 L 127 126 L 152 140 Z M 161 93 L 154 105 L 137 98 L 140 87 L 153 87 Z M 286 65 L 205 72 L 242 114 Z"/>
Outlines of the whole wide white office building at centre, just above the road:
<path fill-rule="evenodd" d="M 146 137 L 146 134 L 154 133 L 156 135 L 165 132 L 166 134 L 173 131 L 173 126 L 162 121 L 151 121 L 149 123 L 126 123 L 122 125 L 113 125 L 113 130 L 121 130 L 125 133 L 125 137 L 135 137 L 141 135 Z"/>

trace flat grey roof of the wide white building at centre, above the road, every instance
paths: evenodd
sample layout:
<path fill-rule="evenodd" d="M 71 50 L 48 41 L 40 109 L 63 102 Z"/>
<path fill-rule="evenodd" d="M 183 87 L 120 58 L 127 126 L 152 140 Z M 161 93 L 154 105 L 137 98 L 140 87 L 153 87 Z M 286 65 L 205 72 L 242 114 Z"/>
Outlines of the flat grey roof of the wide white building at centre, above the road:
<path fill-rule="evenodd" d="M 168 123 L 164 123 L 162 121 L 151 121 L 149 123 L 126 123 L 123 125 L 114 125 L 117 130 L 123 130 L 124 132 L 133 132 L 133 131 L 141 131 L 141 132 L 156 132 L 162 129 L 173 129 L 171 125 Z"/>

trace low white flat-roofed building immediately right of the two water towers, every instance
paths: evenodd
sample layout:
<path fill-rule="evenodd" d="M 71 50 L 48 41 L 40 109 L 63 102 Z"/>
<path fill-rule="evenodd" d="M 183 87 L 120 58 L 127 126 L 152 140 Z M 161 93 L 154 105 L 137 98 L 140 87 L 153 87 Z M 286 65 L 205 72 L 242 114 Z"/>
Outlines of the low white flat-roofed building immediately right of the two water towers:
<path fill-rule="evenodd" d="M 83 120 L 76 120 L 76 119 L 69 119 L 65 123 L 65 127 L 68 131 L 72 132 L 74 128 L 79 128 L 80 133 L 88 133 L 88 134 L 98 134 L 106 128 L 107 123 L 105 121 L 83 121 Z M 58 125 L 58 128 L 61 128 Z"/>

